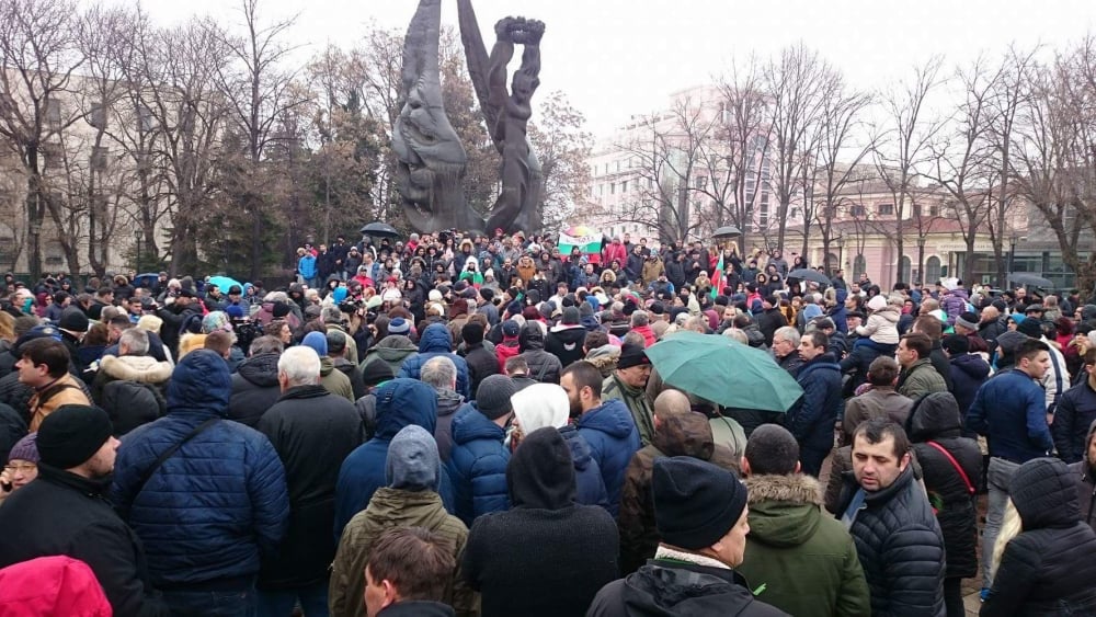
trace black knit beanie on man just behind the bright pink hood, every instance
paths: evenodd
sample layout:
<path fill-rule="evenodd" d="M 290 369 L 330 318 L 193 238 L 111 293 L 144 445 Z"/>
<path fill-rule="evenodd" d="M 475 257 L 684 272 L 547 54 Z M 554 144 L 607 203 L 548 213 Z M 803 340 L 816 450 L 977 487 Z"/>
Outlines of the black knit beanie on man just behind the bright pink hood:
<path fill-rule="evenodd" d="M 102 409 L 61 405 L 38 427 L 38 456 L 50 467 L 71 469 L 94 456 L 113 433 L 111 419 Z"/>

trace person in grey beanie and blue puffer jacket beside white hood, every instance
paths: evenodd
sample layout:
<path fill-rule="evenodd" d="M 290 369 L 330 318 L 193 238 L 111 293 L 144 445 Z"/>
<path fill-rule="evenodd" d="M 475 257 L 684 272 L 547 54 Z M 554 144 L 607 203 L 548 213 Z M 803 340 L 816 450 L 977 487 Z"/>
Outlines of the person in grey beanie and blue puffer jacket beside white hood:
<path fill-rule="evenodd" d="M 503 441 L 514 418 L 510 397 L 515 392 L 517 386 L 513 379 L 490 375 L 480 384 L 476 401 L 465 403 L 453 419 L 448 469 L 454 514 L 469 527 L 480 515 L 510 507 L 506 492 L 510 450 Z"/>

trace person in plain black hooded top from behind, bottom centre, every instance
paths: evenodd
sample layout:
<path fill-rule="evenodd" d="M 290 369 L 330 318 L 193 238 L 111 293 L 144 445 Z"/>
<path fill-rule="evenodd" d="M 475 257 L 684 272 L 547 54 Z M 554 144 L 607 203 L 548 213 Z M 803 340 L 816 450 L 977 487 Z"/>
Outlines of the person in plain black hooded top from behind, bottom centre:
<path fill-rule="evenodd" d="M 476 519 L 463 570 L 483 617 L 583 615 L 617 576 L 617 532 L 605 510 L 575 503 L 574 462 L 560 433 L 525 435 L 506 466 L 513 507 Z"/>

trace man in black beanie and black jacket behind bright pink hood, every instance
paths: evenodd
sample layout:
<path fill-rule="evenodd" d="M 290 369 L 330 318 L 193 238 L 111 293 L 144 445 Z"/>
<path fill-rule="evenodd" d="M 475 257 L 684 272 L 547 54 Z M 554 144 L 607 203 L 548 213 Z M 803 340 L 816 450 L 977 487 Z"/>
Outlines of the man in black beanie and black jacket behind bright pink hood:
<path fill-rule="evenodd" d="M 65 405 L 38 429 L 38 478 L 0 509 L 0 568 L 65 555 L 85 562 L 115 615 L 167 616 L 134 533 L 106 500 L 118 441 L 106 412 Z"/>

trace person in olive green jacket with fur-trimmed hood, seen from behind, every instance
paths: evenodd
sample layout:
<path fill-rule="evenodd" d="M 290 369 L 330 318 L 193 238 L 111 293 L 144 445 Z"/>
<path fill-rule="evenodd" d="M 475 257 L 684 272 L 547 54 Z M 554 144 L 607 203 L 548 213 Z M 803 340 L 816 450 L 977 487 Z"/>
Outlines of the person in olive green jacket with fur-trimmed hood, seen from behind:
<path fill-rule="evenodd" d="M 840 522 L 822 514 L 822 488 L 800 471 L 791 433 L 776 424 L 754 431 L 742 473 L 750 535 L 739 572 L 764 589 L 758 597 L 797 617 L 870 615 L 856 545 Z"/>

